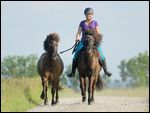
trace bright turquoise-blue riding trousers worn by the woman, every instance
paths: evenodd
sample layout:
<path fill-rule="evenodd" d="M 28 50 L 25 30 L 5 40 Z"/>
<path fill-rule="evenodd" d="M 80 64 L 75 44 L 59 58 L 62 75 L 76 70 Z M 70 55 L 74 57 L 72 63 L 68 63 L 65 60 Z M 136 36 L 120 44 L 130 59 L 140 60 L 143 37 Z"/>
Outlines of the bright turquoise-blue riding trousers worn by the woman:
<path fill-rule="evenodd" d="M 79 52 L 83 47 L 84 47 L 84 46 L 83 46 L 83 41 L 80 41 L 79 44 L 78 44 L 77 47 L 76 47 L 76 50 L 75 50 L 75 54 L 74 54 L 74 57 L 73 57 L 74 60 L 77 58 L 77 56 L 78 56 L 78 54 L 79 54 L 78 52 Z M 98 50 L 98 52 L 99 52 L 99 54 L 100 54 L 100 56 L 101 56 L 102 61 L 104 61 L 105 57 L 104 57 L 104 54 L 103 54 L 103 52 L 102 52 L 101 47 L 100 47 L 100 46 L 97 46 L 97 50 Z"/>

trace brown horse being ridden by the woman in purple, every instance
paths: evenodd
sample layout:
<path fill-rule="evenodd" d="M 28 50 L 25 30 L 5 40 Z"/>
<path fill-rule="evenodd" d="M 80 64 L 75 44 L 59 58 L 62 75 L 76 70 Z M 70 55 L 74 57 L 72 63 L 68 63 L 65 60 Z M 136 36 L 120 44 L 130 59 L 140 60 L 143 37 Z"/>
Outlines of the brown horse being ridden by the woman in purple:
<path fill-rule="evenodd" d="M 101 66 L 99 64 L 99 53 L 96 44 L 100 43 L 101 36 L 96 34 L 94 30 L 85 32 L 84 50 L 78 57 L 78 71 L 80 77 L 80 88 L 82 101 L 86 100 L 86 77 L 88 77 L 88 104 L 94 101 L 95 88 L 101 90 L 103 88 L 100 78 Z"/>

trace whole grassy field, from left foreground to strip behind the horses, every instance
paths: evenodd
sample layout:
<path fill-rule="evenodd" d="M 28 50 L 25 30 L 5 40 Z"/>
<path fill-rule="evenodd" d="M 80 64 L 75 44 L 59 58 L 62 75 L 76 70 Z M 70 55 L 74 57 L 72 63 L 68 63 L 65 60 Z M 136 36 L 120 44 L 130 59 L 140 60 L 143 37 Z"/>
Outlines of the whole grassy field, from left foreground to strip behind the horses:
<path fill-rule="evenodd" d="M 1 111 L 26 111 L 43 103 L 40 99 L 42 90 L 40 77 L 36 78 L 1 78 Z M 149 97 L 149 88 L 104 89 L 96 92 L 96 96 L 134 96 Z M 65 88 L 59 97 L 80 97 L 80 92 Z M 48 90 L 48 98 L 51 94 Z"/>

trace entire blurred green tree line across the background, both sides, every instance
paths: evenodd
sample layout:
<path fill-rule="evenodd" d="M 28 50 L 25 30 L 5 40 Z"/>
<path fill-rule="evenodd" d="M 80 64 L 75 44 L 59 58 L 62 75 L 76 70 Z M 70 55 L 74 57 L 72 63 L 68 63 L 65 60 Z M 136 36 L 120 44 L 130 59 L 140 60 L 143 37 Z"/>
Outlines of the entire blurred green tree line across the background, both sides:
<path fill-rule="evenodd" d="M 7 56 L 1 61 L 1 77 L 34 77 L 37 76 L 36 55 L 29 56 Z M 125 87 L 148 86 L 149 85 L 149 55 L 145 51 L 130 59 L 121 60 L 118 65 L 120 71 L 115 85 Z M 70 73 L 71 65 L 68 65 L 61 76 L 62 84 L 79 89 L 79 75 L 68 79 L 66 75 Z M 107 80 L 108 84 L 111 79 Z M 107 84 L 107 83 L 106 83 Z"/>

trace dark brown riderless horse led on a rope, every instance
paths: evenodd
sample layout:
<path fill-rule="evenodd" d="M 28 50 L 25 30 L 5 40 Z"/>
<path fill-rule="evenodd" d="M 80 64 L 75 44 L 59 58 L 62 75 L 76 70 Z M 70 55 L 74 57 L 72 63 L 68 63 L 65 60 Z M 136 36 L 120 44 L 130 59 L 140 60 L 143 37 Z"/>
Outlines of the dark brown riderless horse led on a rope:
<path fill-rule="evenodd" d="M 58 103 L 59 77 L 63 72 L 64 64 L 57 53 L 59 36 L 57 33 L 49 34 L 44 41 L 45 53 L 43 53 L 37 63 L 37 71 L 41 76 L 43 91 L 41 99 L 44 104 L 48 104 L 47 88 L 51 85 L 52 101 L 51 104 Z M 56 100 L 54 99 L 56 93 Z"/>

